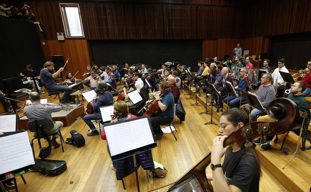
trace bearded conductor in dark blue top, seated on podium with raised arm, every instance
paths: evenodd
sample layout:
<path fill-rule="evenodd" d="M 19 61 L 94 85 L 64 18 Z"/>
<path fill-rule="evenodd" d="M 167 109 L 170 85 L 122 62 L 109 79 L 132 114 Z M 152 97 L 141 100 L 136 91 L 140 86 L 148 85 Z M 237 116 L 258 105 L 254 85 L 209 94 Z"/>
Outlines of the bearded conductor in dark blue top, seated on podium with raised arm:
<path fill-rule="evenodd" d="M 64 70 L 63 67 L 59 68 L 57 72 L 51 74 L 49 71 L 52 71 L 54 68 L 54 63 L 47 61 L 43 65 L 44 69 L 40 71 L 41 81 L 45 84 L 45 87 L 48 91 L 64 91 L 63 97 L 60 99 L 61 105 L 72 104 L 69 101 L 71 89 L 67 86 L 57 85 L 53 78 L 57 77 L 60 72 Z"/>

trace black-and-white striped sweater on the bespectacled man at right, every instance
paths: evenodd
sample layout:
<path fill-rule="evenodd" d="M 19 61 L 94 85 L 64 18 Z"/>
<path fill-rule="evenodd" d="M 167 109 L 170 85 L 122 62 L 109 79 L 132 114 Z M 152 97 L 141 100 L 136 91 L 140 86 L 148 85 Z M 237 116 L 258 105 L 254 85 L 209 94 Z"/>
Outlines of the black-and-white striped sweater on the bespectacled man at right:
<path fill-rule="evenodd" d="M 271 101 L 276 98 L 275 89 L 272 84 L 266 87 L 260 85 L 258 91 L 256 92 L 256 95 L 264 109 L 267 109 L 267 106 L 271 103 Z"/>

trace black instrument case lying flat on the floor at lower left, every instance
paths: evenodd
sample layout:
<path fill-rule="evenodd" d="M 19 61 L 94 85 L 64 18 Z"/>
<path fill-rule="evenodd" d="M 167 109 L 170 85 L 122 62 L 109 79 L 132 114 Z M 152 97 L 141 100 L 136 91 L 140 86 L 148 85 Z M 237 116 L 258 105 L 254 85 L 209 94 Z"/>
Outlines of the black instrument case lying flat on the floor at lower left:
<path fill-rule="evenodd" d="M 67 169 L 67 164 L 62 160 L 35 159 L 34 170 L 45 176 L 57 176 Z"/>

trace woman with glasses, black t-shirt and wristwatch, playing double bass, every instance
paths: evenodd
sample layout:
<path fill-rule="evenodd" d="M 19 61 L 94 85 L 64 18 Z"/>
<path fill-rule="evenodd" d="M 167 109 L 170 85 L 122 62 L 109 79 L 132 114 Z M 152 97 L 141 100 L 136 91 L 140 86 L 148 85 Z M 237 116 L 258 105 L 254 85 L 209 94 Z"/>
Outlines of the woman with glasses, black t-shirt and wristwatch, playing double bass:
<path fill-rule="evenodd" d="M 249 123 L 249 108 L 232 108 L 224 111 L 219 121 L 220 136 L 211 148 L 212 173 L 207 179 L 213 181 L 214 189 L 221 191 L 259 191 L 261 175 L 259 157 L 252 147 L 241 148 L 238 143 L 223 147 L 225 138 Z M 223 164 L 220 159 L 225 155 Z"/>

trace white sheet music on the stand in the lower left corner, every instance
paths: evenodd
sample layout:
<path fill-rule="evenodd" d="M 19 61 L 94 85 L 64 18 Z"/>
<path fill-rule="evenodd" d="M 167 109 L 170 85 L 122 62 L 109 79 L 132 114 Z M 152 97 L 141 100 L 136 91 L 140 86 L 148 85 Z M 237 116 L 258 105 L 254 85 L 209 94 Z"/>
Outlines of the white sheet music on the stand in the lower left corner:
<path fill-rule="evenodd" d="M 0 137 L 0 174 L 35 164 L 27 132 Z"/>

